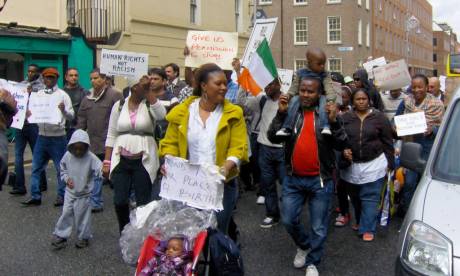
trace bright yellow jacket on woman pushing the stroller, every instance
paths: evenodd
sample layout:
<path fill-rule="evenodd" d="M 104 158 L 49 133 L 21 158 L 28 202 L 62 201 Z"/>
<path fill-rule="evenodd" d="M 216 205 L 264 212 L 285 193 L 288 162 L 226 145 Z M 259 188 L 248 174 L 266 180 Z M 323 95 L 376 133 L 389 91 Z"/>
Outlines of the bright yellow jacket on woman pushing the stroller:
<path fill-rule="evenodd" d="M 189 107 L 197 98 L 189 97 L 166 116 L 169 125 L 164 139 L 160 141 L 161 157 L 169 154 L 188 159 Z M 243 110 L 225 100 L 216 136 L 216 165 L 222 166 L 229 156 L 237 157 L 242 163 L 248 162 L 248 138 Z M 232 170 L 227 179 L 237 175 L 238 170 Z"/>

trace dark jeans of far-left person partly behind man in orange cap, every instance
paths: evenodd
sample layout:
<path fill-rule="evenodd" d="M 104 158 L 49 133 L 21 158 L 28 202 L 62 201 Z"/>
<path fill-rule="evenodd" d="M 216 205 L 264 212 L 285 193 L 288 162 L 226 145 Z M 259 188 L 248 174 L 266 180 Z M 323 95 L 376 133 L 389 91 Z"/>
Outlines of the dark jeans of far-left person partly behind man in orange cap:
<path fill-rule="evenodd" d="M 38 138 L 38 126 L 36 124 L 24 124 L 21 129 L 16 129 L 15 144 L 14 144 L 14 173 L 16 174 L 16 181 L 14 189 L 17 191 L 25 192 L 25 177 L 24 177 L 24 151 L 27 143 L 29 143 L 30 150 L 33 152 L 35 143 Z M 40 184 L 46 186 L 46 171 L 40 176 Z"/>

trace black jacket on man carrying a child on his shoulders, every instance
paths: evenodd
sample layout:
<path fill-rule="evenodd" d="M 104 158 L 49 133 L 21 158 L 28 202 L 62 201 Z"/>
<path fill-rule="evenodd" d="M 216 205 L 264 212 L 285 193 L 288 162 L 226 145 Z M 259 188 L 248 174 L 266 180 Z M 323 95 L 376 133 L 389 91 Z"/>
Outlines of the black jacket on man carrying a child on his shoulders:
<path fill-rule="evenodd" d="M 287 112 L 278 112 L 273 119 L 270 128 L 267 132 L 268 140 L 274 144 L 284 143 L 285 153 L 285 165 L 286 172 L 288 175 L 293 174 L 292 167 L 292 154 L 294 146 L 297 143 L 297 138 L 301 133 L 303 127 L 303 111 L 300 107 L 295 115 L 295 124 L 290 136 L 276 136 L 276 132 L 283 126 L 284 119 L 287 116 Z M 343 151 L 344 146 L 348 144 L 348 138 L 345 133 L 345 129 L 342 126 L 340 118 L 337 118 L 337 122 L 330 124 L 332 135 L 321 134 L 320 121 L 318 111 L 315 111 L 315 132 L 316 141 L 318 143 L 318 154 L 320 161 L 320 174 L 323 180 L 329 180 L 332 178 L 332 171 L 335 168 L 335 150 Z"/>

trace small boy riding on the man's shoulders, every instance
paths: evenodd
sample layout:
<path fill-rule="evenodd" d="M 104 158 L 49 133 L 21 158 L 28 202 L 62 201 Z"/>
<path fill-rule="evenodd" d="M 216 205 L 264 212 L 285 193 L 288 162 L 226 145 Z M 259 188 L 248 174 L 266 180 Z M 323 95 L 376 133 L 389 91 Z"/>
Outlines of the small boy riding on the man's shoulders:
<path fill-rule="evenodd" d="M 297 97 L 297 94 L 299 93 L 299 82 L 304 77 L 315 77 L 321 80 L 323 95 L 326 95 L 321 96 L 320 98 L 319 117 L 322 128 L 321 133 L 326 135 L 332 134 L 329 128 L 325 106 L 326 102 L 335 103 L 337 94 L 332 87 L 332 79 L 330 75 L 325 71 L 326 54 L 321 49 L 312 48 L 308 49 L 306 56 L 308 62 L 307 68 L 297 71 L 297 74 L 294 75 L 291 88 L 289 89 L 289 96 L 294 98 L 289 104 L 288 116 L 284 121 L 283 128 L 276 133 L 278 136 L 289 136 L 294 128 L 296 110 L 300 106 Z"/>

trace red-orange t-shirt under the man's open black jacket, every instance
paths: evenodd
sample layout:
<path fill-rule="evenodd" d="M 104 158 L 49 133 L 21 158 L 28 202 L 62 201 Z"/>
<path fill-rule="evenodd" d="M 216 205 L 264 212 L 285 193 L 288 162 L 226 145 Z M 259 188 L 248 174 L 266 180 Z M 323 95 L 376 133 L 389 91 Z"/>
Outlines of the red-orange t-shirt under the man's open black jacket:
<path fill-rule="evenodd" d="M 292 154 L 292 167 L 298 176 L 319 175 L 318 142 L 315 133 L 314 111 L 304 111 L 302 131 Z"/>

